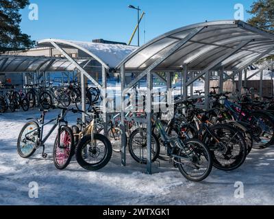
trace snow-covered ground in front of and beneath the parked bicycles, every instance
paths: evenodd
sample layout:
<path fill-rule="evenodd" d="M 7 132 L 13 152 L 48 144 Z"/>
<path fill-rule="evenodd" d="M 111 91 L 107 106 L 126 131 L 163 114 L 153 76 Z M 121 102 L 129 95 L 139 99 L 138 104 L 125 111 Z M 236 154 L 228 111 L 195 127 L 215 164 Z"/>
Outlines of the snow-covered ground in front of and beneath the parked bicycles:
<path fill-rule="evenodd" d="M 48 118 L 56 116 L 52 111 Z M 31 159 L 16 153 L 18 133 L 26 118 L 38 111 L 0 115 L 0 205 L 273 205 L 274 148 L 254 150 L 245 164 L 233 172 L 212 170 L 208 179 L 192 183 L 169 162 L 153 166 L 146 175 L 127 155 L 122 167 L 119 154 L 97 172 L 80 168 L 75 161 L 63 171 L 56 170 L 51 157 L 41 151 Z M 72 122 L 75 116 L 69 117 Z M 51 153 L 53 135 L 47 142 Z M 38 183 L 38 198 L 29 198 L 28 185 Z M 244 184 L 244 198 L 235 198 L 236 181 Z"/>

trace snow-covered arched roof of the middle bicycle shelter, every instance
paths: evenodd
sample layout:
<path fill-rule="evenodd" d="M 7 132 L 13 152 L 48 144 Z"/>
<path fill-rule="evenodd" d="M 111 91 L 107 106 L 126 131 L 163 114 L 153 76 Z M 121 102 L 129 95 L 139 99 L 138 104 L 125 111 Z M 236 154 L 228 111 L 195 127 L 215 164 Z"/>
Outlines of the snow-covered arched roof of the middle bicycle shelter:
<path fill-rule="evenodd" d="M 38 41 L 38 47 L 53 47 L 55 42 L 61 48 L 75 48 L 97 60 L 105 68 L 115 68 L 125 57 L 138 49 L 122 44 L 104 44 L 97 42 L 80 42 L 72 40 L 46 39 Z"/>

